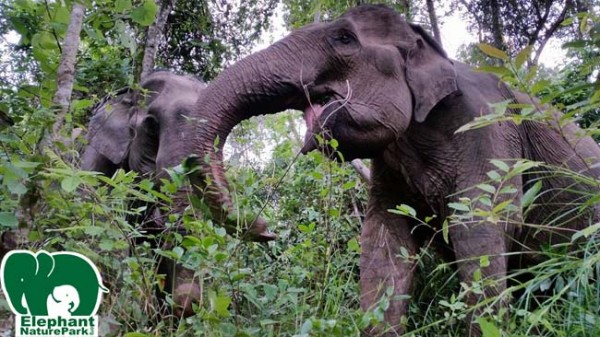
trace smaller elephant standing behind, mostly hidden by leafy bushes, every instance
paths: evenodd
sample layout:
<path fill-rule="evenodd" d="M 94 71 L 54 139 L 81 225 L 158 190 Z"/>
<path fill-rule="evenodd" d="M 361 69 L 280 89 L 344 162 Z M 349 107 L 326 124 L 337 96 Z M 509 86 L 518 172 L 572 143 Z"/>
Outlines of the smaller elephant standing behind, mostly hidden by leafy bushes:
<path fill-rule="evenodd" d="M 82 155 L 82 169 L 110 176 L 122 168 L 159 182 L 166 176 L 164 169 L 181 164 L 188 156 L 194 155 L 195 149 L 190 146 L 189 137 L 195 125 L 214 118 L 211 112 L 193 117 L 190 113 L 206 85 L 192 76 L 155 71 L 140 83 L 140 87 L 141 90 L 119 90 L 116 95 L 101 100 L 93 109 L 87 133 L 88 145 Z M 204 181 L 192 181 L 192 184 L 202 194 Z M 186 192 L 189 191 L 176 195 L 175 211 L 183 211 L 187 206 Z M 151 234 L 164 231 L 165 215 L 158 207 L 147 206 L 150 207 L 145 214 L 129 219 L 130 222 L 144 223 L 143 229 Z M 229 212 L 224 212 L 221 207 L 220 203 L 218 208 L 211 208 L 212 216 L 224 225 L 229 234 L 240 234 L 244 239 L 258 242 L 275 239 L 262 218 L 252 219 L 254 222 L 249 228 L 239 233 L 238 224 L 245 221 L 234 216 L 226 217 L 231 214 L 233 204 L 228 205 Z M 193 313 L 191 301 L 182 292 L 200 298 L 199 289 L 193 283 L 186 283 L 185 280 L 191 279 L 191 276 L 183 277 L 183 274 L 189 274 L 188 271 L 179 266 L 177 270 L 174 268 L 169 260 L 162 259 L 159 263 L 159 273 L 167 275 L 164 288 L 174 291 L 175 303 L 184 308 L 183 314 L 188 316 Z"/>

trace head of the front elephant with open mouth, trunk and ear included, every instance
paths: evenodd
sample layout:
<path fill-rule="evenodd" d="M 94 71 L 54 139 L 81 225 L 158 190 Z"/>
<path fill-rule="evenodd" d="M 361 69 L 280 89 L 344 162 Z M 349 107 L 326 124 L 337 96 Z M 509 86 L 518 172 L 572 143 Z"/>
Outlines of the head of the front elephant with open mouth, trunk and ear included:
<path fill-rule="evenodd" d="M 211 159 L 201 172 L 212 182 L 212 202 L 231 204 L 220 149 L 243 119 L 303 110 L 303 152 L 327 150 L 315 136 L 323 133 L 338 140 L 346 160 L 371 158 L 456 91 L 452 61 L 390 8 L 359 6 L 333 22 L 302 27 L 232 65 L 202 92 L 196 112 L 218 116 L 197 132 L 201 154 Z"/>

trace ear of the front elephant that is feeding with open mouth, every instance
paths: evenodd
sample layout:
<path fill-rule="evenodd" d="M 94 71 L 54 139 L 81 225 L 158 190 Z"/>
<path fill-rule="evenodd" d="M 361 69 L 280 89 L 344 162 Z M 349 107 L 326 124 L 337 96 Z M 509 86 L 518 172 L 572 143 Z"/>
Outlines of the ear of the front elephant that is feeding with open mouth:
<path fill-rule="evenodd" d="M 410 26 L 418 35 L 416 46 L 408 51 L 406 80 L 414 97 L 415 120 L 421 123 L 458 86 L 454 64 L 442 47 L 421 26 Z"/>

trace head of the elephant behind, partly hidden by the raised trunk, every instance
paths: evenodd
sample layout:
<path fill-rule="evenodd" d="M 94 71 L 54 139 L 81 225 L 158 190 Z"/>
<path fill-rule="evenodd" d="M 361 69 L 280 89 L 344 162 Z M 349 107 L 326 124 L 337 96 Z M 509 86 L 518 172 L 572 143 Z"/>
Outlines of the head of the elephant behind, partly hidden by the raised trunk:
<path fill-rule="evenodd" d="M 189 76 L 157 71 L 141 89 L 122 89 L 94 109 L 83 169 L 107 175 L 117 168 L 153 174 L 179 164 L 193 149 L 186 145 L 188 118 L 205 84 Z"/>

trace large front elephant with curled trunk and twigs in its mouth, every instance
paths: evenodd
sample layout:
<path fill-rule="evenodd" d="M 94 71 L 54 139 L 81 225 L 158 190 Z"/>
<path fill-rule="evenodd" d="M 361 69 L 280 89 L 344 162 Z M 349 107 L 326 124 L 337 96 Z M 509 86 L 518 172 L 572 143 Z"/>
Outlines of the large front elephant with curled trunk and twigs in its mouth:
<path fill-rule="evenodd" d="M 490 181 L 486 173 L 495 168 L 492 159 L 527 159 L 593 179 L 600 175 L 598 145 L 580 137 L 582 130 L 573 123 L 501 121 L 457 132 L 476 117 L 493 113 L 490 104 L 507 100 L 537 105 L 495 75 L 449 59 L 422 27 L 394 10 L 361 5 L 332 22 L 299 28 L 225 69 L 202 91 L 193 112 L 217 117 L 199 125 L 198 137 L 191 141 L 201 156 L 210 158 L 200 163 L 198 174 L 212 182 L 207 196 L 214 204 L 231 203 L 222 144 L 215 149 L 215 139 L 226 139 L 235 125 L 253 116 L 304 111 L 308 131 L 303 153 L 320 150 L 334 159 L 371 159 L 368 209 L 360 234 L 360 304 L 370 310 L 387 289 L 393 290 L 384 324 L 367 332 L 396 336 L 403 333 L 401 317 L 407 314 L 408 300 L 395 295 L 410 294 L 416 273 L 414 261 L 400 256 L 414 256 L 432 243 L 456 262 L 461 282 L 471 284 L 481 269 L 479 275 L 493 285 L 485 286 L 483 294 L 469 292 L 466 301 L 475 305 L 507 289 L 509 270 L 542 258 L 527 252 L 568 243 L 574 231 L 598 219 L 596 206 L 565 223 L 549 223 L 547 231 L 521 225 L 546 224 L 546 216 L 557 211 L 578 214 L 574 210 L 583 201 L 575 191 L 598 190 L 560 177 L 548 166 L 515 175 L 509 181 L 514 189 L 499 199 L 518 205 L 524 191 L 541 181 L 533 209 L 523 213 L 515 206 L 509 217 L 495 220 L 476 216 L 447 226 L 448 240 L 438 235 L 444 220 L 454 214 L 448 202 L 476 200 L 481 191 L 473 186 Z M 511 108 L 507 113 L 519 112 Z M 560 118 L 558 112 L 554 116 Z M 435 218 L 422 226 L 389 211 L 402 204 Z M 492 206 L 481 207 L 489 211 Z M 487 266 L 480 266 L 481 256 L 489 257 Z M 498 301 L 494 310 L 504 305 Z M 467 317 L 472 336 L 481 335 L 473 322 L 478 314 L 480 309 Z"/>

